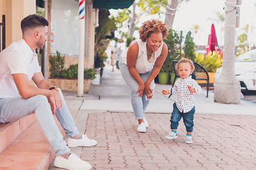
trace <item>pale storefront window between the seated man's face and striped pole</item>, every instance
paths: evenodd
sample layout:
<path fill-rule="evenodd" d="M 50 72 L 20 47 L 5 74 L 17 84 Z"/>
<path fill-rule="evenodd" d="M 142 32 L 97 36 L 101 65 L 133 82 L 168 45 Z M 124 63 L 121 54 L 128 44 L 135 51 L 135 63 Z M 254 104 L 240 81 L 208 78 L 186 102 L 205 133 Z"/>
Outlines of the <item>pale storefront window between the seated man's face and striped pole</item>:
<path fill-rule="evenodd" d="M 78 6 L 74 0 L 52 0 L 51 53 L 78 55 Z"/>

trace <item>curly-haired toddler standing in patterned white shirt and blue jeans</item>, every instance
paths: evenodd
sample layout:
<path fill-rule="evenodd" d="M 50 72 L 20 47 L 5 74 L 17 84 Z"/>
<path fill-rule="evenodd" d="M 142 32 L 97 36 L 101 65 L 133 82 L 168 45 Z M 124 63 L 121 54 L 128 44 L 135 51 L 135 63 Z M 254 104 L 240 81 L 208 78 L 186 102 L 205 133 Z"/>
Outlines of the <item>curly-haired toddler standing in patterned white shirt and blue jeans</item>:
<path fill-rule="evenodd" d="M 179 73 L 179 80 L 175 81 L 173 88 L 170 90 L 162 90 L 163 94 L 175 95 L 175 103 L 173 103 L 173 111 L 171 117 L 172 131 L 165 136 L 168 139 L 175 139 L 178 137 L 177 128 L 179 121 L 183 118 L 186 126 L 186 143 L 193 143 L 192 132 L 194 127 L 194 114 L 195 114 L 195 94 L 201 92 L 201 87 L 191 78 L 195 66 L 193 61 L 189 59 L 180 59 L 176 64 L 175 69 Z M 170 97 L 169 96 L 169 97 Z"/>

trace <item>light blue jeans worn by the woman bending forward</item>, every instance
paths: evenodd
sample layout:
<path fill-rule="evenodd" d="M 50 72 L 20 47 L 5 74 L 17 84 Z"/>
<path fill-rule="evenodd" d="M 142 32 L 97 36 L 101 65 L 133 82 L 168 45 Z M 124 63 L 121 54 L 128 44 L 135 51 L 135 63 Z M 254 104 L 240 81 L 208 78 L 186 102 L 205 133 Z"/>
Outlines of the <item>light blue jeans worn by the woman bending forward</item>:
<path fill-rule="evenodd" d="M 126 64 L 120 62 L 119 65 L 120 65 L 121 74 L 131 92 L 131 104 L 132 104 L 132 109 L 135 113 L 135 117 L 137 120 L 142 119 L 144 118 L 143 113 L 145 112 L 150 100 L 146 99 L 146 96 L 144 94 L 142 97 L 139 97 L 138 94 L 136 94 L 139 88 L 138 82 L 129 73 L 129 70 Z M 150 71 L 148 71 L 147 73 L 140 74 L 140 77 L 144 82 L 148 80 L 148 77 L 150 76 L 151 71 L 152 69 L 150 69 Z M 150 87 L 153 90 L 155 89 L 156 84 L 154 80 L 150 83 Z"/>

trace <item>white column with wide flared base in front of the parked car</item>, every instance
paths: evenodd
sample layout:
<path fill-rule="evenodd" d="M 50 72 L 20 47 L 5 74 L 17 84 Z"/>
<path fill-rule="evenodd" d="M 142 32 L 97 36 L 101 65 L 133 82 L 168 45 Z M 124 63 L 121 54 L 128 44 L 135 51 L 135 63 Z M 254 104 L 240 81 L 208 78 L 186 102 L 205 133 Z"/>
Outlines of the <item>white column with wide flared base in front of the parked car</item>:
<path fill-rule="evenodd" d="M 219 103 L 239 104 L 241 98 L 240 83 L 234 71 L 236 3 L 237 0 L 226 0 L 222 71 L 214 81 L 214 101 Z"/>

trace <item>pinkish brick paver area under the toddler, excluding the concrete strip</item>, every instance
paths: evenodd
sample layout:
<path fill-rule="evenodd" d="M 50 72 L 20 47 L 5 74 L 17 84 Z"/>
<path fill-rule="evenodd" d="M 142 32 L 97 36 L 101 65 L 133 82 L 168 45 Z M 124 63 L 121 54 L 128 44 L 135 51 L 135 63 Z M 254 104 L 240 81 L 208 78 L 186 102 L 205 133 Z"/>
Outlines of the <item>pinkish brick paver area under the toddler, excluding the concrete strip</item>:
<path fill-rule="evenodd" d="M 133 113 L 93 113 L 86 134 L 98 145 L 83 148 L 81 158 L 94 169 L 256 169 L 256 117 L 195 115 L 193 144 L 184 142 L 182 120 L 175 140 L 170 114 L 147 113 L 147 133 L 136 131 Z"/>

